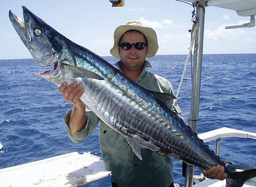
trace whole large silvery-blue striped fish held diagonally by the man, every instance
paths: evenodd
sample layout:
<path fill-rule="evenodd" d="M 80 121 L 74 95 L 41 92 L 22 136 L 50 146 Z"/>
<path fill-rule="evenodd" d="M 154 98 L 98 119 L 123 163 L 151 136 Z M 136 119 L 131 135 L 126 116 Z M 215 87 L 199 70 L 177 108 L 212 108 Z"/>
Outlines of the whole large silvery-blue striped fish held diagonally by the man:
<path fill-rule="evenodd" d="M 36 73 L 57 84 L 79 82 L 85 88 L 80 100 L 101 120 L 121 134 L 139 159 L 146 148 L 209 170 L 225 165 L 205 143 L 165 105 L 169 94 L 155 93 L 139 86 L 121 71 L 78 46 L 51 28 L 23 6 L 24 21 L 9 13 L 22 42 L 40 66 L 52 71 Z M 242 186 L 256 176 L 256 170 L 228 173 L 226 186 Z"/>

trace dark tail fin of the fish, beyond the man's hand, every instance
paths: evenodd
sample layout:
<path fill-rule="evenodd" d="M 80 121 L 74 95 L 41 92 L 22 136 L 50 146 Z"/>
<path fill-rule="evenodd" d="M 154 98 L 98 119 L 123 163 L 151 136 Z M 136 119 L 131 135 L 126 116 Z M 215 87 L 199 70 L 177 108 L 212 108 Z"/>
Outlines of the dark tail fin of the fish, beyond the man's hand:
<path fill-rule="evenodd" d="M 234 172 L 234 178 L 228 177 L 225 187 L 241 187 L 243 184 L 253 177 L 256 177 L 256 169 L 244 170 L 242 172 Z"/>

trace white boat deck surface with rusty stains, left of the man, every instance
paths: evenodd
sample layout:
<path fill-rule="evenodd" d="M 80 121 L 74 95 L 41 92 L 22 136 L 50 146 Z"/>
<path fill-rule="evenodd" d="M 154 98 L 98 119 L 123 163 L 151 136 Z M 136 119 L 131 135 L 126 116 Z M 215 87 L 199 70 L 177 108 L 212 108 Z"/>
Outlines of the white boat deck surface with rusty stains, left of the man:
<path fill-rule="evenodd" d="M 0 170 L 1 187 L 81 186 L 108 177 L 100 157 L 71 152 Z"/>

